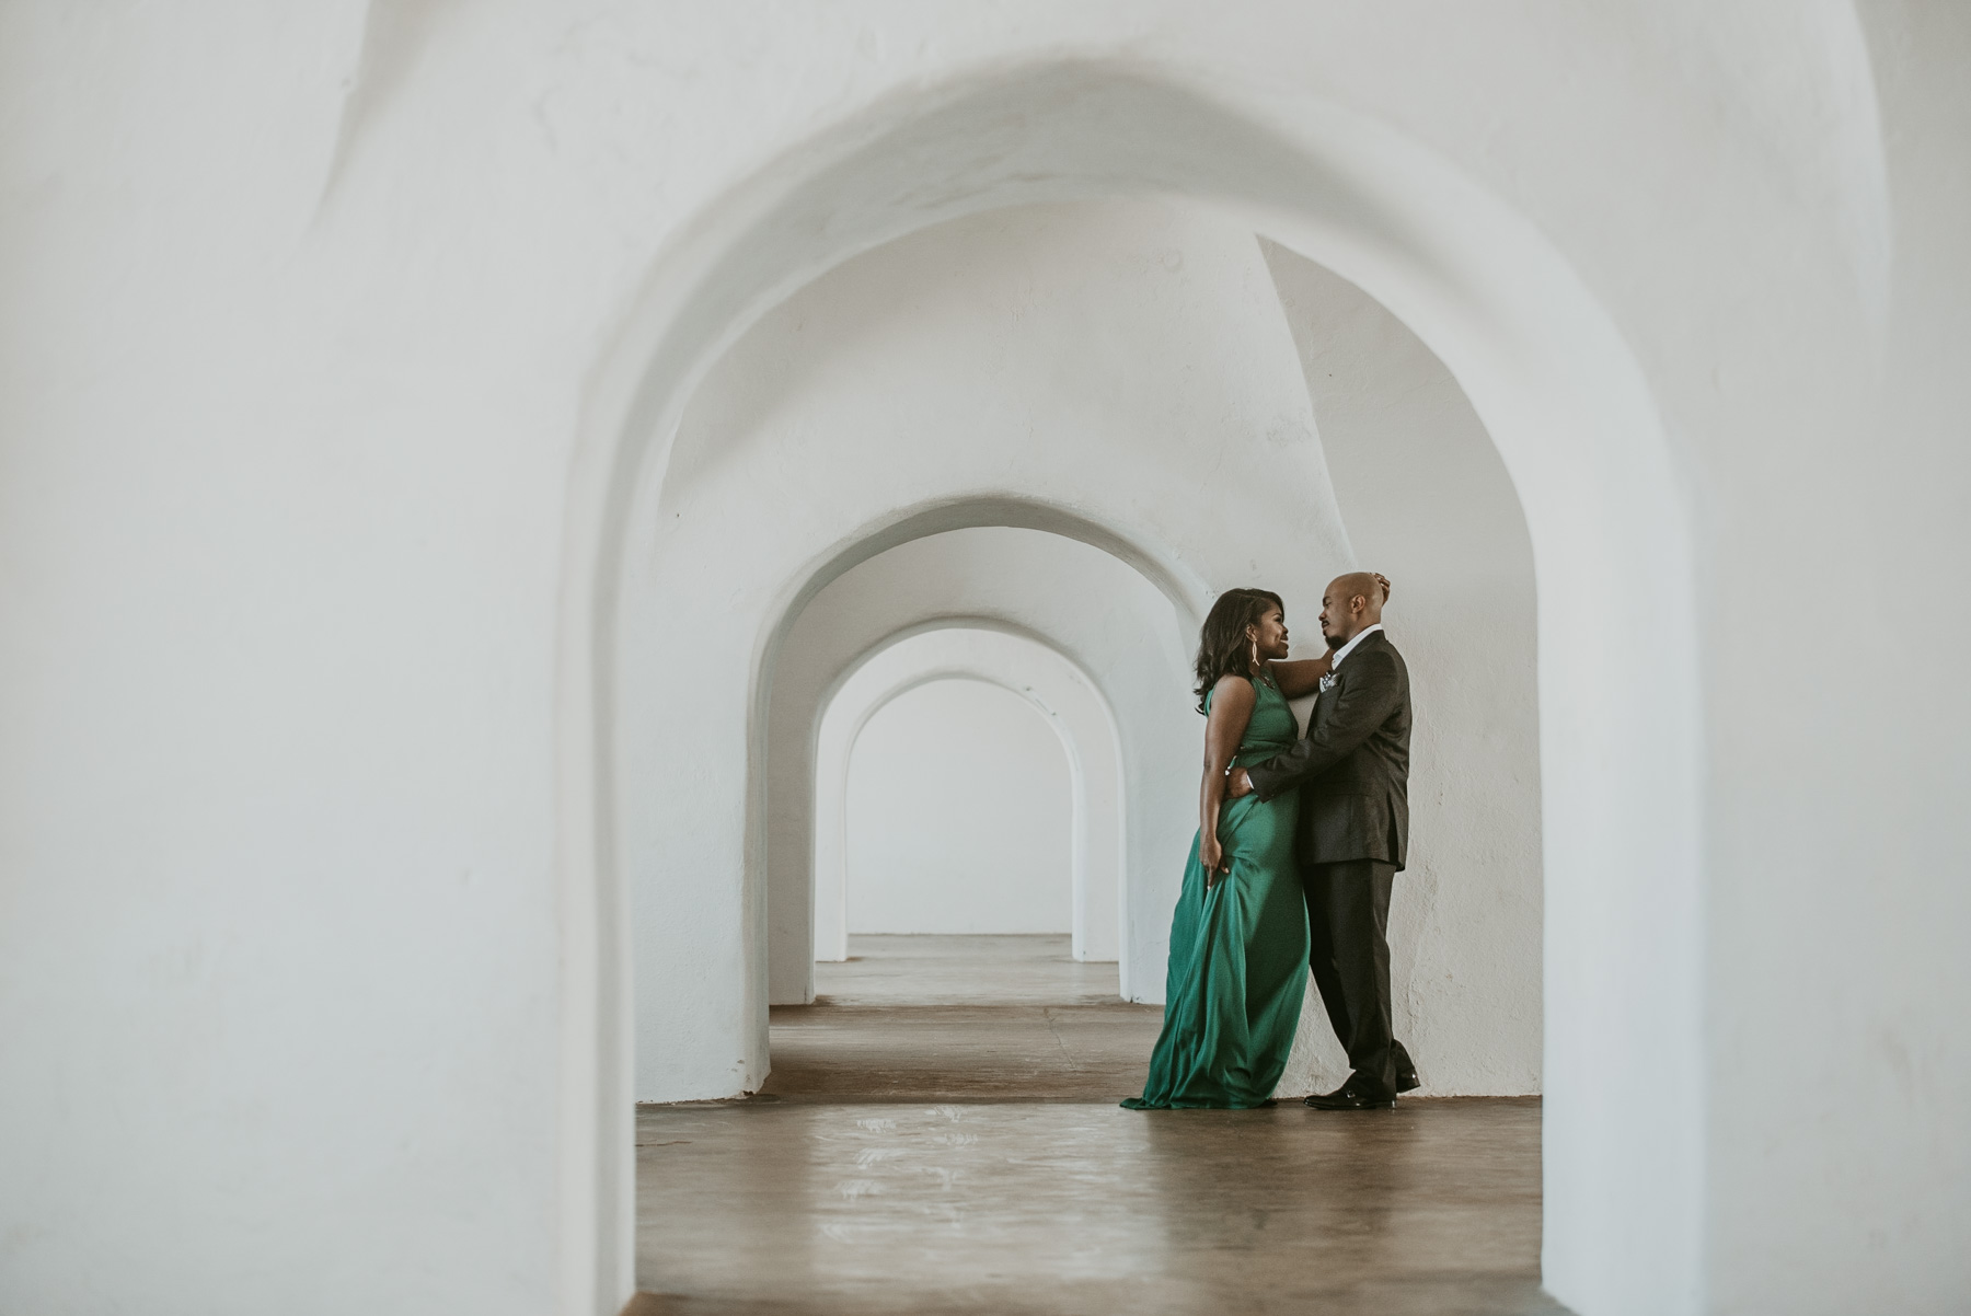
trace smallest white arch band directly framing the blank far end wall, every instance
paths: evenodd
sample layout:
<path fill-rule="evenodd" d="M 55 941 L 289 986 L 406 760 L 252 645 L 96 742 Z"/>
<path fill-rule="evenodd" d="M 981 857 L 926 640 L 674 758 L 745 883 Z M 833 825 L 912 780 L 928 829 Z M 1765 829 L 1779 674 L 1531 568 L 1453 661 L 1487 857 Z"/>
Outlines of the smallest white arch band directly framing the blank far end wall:
<path fill-rule="evenodd" d="M 950 678 L 1013 691 L 1060 737 L 1074 790 L 1074 957 L 1118 959 L 1125 841 L 1116 719 L 1094 682 L 1058 650 L 984 626 L 938 626 L 895 638 L 869 654 L 828 701 L 814 770 L 814 957 L 848 959 L 846 796 L 855 739 L 889 701 Z"/>

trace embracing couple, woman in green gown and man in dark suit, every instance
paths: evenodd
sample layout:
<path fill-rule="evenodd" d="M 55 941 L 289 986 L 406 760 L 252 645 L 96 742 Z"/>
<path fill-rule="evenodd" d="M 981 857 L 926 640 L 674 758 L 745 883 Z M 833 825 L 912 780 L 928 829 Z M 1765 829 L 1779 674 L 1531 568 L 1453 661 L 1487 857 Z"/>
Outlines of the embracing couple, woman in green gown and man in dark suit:
<path fill-rule="evenodd" d="M 1171 918 L 1163 1034 L 1131 1109 L 1271 1105 L 1313 971 L 1352 1074 L 1307 1097 L 1395 1105 L 1417 1086 L 1390 1017 L 1390 888 L 1409 835 L 1409 670 L 1382 628 L 1390 581 L 1336 577 L 1323 658 L 1287 660 L 1267 589 L 1228 589 L 1198 636 L 1204 784 Z M 1319 691 L 1299 727 L 1287 699 Z"/>

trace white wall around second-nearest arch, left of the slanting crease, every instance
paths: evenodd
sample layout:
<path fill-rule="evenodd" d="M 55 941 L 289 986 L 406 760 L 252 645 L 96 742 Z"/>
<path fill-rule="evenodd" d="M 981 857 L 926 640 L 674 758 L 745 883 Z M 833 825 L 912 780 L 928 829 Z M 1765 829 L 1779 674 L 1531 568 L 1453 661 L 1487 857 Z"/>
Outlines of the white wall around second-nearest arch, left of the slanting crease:
<path fill-rule="evenodd" d="M 1118 225 L 1149 270 L 1100 258 Z M 997 238 L 1013 232 L 1023 236 L 1011 246 Z M 1179 244 L 1177 268 L 1155 260 L 1163 242 Z M 986 264 L 966 264 L 966 250 Z M 974 286 L 954 282 L 956 270 L 999 278 Z M 1023 272 L 1041 270 L 1017 325 L 970 313 L 966 290 L 1021 297 Z M 895 313 L 909 305 L 930 319 Z M 1102 333 L 1112 321 L 1127 323 L 1127 351 Z M 1311 437 L 1307 380 L 1259 244 L 1196 205 L 1023 207 L 956 221 L 830 272 L 735 343 L 686 412 L 672 471 L 629 554 L 619 656 L 639 676 L 621 688 L 619 713 L 637 733 L 619 766 L 637 808 L 617 839 L 635 875 L 637 957 L 650 967 L 637 993 L 637 1097 L 696 1099 L 765 1082 L 761 999 L 798 999 L 777 985 L 775 963 L 802 977 L 812 965 L 810 952 L 798 961 L 775 954 L 810 928 L 806 908 L 777 898 L 777 867 L 808 845 L 792 818 L 812 792 L 775 782 L 798 762 L 775 745 L 806 735 L 784 678 L 810 652 L 794 638 L 818 615 L 810 595 L 932 530 L 1053 530 L 1161 587 L 1167 638 L 1153 644 L 1169 648 L 1169 664 L 1153 701 L 1189 729 L 1194 630 L 1177 615 L 1196 617 L 1196 597 L 1244 583 L 1259 561 L 1273 587 L 1313 599 L 1350 559 Z M 993 585 L 1015 605 L 1047 579 L 974 571 L 932 611 L 970 611 L 964 595 Z M 1104 611 L 1100 595 L 1060 603 L 1088 619 Z M 1104 682 L 1118 670 L 1084 666 Z M 680 701 L 678 690 L 692 697 Z M 674 745 L 694 751 L 678 757 Z M 1173 745 L 1161 760 L 1194 753 Z M 1189 816 L 1190 794 L 1157 814 Z M 721 877 L 676 887 L 676 873 Z M 1161 879 L 1175 900 L 1177 865 Z M 1167 934 L 1167 908 L 1131 920 L 1145 983 L 1163 979 Z M 678 1009 L 680 987 L 698 1009 Z"/>

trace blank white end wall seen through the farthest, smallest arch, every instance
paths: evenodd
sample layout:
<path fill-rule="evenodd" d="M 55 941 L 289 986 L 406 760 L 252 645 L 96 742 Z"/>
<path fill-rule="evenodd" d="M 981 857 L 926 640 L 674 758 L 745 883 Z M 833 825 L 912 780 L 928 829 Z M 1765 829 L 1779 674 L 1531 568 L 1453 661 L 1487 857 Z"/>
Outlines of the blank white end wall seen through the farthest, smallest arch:
<path fill-rule="evenodd" d="M 850 760 L 850 932 L 1072 932 L 1072 827 L 1060 737 L 1025 699 L 962 678 L 901 693 Z"/>

